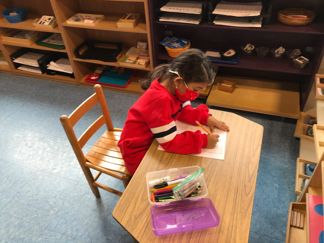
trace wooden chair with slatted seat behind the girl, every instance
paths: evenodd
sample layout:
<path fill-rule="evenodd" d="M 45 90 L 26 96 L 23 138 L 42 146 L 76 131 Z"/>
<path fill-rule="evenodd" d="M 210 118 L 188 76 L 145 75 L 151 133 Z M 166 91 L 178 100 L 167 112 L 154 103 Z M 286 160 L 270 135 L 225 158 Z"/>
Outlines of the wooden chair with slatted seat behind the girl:
<path fill-rule="evenodd" d="M 112 125 L 109 110 L 101 86 L 96 84 L 94 88 L 96 92 L 93 95 L 91 95 L 89 98 L 87 98 L 87 100 L 79 105 L 79 107 L 76 108 L 71 113 L 71 115 L 63 115 L 60 117 L 60 120 L 63 125 L 64 131 L 72 145 L 74 153 L 80 163 L 83 173 L 85 174 L 90 188 L 95 196 L 97 198 L 100 197 L 98 187 L 121 196 L 122 192 L 114 190 L 97 182 L 97 179 L 99 178 L 101 173 L 104 173 L 122 180 L 124 187 L 126 188 L 131 179 L 131 175 L 125 167 L 124 160 L 121 157 L 120 149 L 117 146 L 122 129 L 114 128 Z M 89 111 L 98 103 L 100 104 L 102 115 L 96 121 L 94 121 L 77 139 L 73 130 L 73 126 L 77 121 L 80 120 L 83 115 L 87 113 L 87 111 Z M 108 131 L 102 134 L 102 136 L 85 156 L 82 152 L 82 147 L 104 124 L 106 124 Z M 98 171 L 96 176 L 92 176 L 90 168 Z"/>

